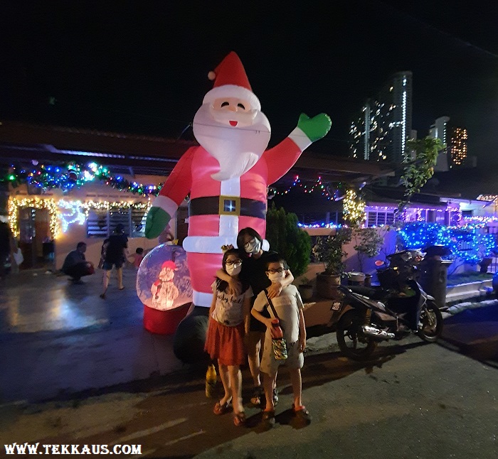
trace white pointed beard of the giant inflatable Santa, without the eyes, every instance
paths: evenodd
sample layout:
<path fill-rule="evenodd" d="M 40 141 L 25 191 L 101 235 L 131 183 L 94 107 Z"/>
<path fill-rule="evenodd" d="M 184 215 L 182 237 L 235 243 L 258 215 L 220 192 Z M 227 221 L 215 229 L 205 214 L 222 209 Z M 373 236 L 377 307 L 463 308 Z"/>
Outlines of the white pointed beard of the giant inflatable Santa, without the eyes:
<path fill-rule="evenodd" d="M 237 121 L 237 114 L 233 113 Z M 252 168 L 270 141 L 270 121 L 258 112 L 251 126 L 232 127 L 215 121 L 209 105 L 203 104 L 194 117 L 194 136 L 199 144 L 220 164 L 214 180 L 240 177 Z"/>

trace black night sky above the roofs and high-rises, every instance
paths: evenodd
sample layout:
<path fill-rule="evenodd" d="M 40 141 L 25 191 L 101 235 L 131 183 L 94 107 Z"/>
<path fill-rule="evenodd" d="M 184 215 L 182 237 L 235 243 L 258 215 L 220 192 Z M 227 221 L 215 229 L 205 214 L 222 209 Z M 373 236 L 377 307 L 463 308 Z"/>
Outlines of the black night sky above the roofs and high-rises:
<path fill-rule="evenodd" d="M 2 2 L 0 116 L 176 138 L 212 87 L 208 71 L 235 50 L 272 144 L 300 112 L 327 112 L 332 130 L 312 148 L 346 155 L 361 104 L 411 70 L 418 136 L 447 115 L 481 166 L 498 162 L 493 1 L 314 3 Z"/>

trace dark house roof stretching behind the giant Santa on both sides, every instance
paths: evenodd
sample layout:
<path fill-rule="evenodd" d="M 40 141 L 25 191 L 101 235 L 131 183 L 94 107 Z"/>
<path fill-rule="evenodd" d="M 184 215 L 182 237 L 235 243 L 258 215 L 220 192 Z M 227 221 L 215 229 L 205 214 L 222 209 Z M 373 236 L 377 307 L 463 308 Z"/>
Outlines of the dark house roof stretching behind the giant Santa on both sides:
<path fill-rule="evenodd" d="M 0 123 L 0 160 L 4 164 L 38 161 L 68 163 L 96 161 L 108 166 L 112 173 L 130 175 L 169 175 L 181 155 L 195 141 L 166 137 L 137 136 L 115 132 L 76 129 L 63 126 L 24 124 L 16 121 Z M 383 175 L 391 175 L 393 167 L 314 153 L 307 150 L 280 181 L 292 182 L 295 175 L 303 178 L 322 176 L 328 181 L 361 183 Z"/>

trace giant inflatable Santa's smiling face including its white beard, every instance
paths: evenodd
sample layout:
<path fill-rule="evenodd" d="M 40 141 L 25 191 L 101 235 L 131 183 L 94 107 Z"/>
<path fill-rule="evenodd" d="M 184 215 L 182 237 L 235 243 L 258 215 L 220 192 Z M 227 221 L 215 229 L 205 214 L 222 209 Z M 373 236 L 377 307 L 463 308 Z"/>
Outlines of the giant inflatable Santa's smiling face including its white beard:
<path fill-rule="evenodd" d="M 270 141 L 270 122 L 247 100 L 225 97 L 198 109 L 194 136 L 220 164 L 212 178 L 228 180 L 240 177 L 258 162 Z"/>

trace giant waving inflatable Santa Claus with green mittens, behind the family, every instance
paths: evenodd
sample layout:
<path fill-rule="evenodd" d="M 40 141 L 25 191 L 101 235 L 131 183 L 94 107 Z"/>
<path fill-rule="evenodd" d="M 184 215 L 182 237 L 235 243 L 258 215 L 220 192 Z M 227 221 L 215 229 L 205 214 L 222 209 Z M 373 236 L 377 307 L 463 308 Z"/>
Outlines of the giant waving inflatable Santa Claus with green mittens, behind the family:
<path fill-rule="evenodd" d="M 313 118 L 301 114 L 287 139 L 266 149 L 270 123 L 238 55 L 228 54 L 208 78 L 214 81 L 213 89 L 194 117 L 200 146 L 189 148 L 180 158 L 154 200 L 145 228 L 147 237 L 158 237 L 190 193 L 184 249 L 196 307 L 176 330 L 174 347 L 184 361 L 203 352 L 221 246 L 236 246 L 238 231 L 245 227 L 265 236 L 267 185 L 287 173 L 304 148 L 322 139 L 332 124 L 327 114 Z"/>

